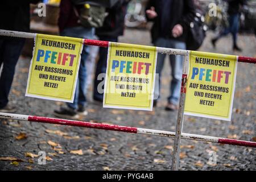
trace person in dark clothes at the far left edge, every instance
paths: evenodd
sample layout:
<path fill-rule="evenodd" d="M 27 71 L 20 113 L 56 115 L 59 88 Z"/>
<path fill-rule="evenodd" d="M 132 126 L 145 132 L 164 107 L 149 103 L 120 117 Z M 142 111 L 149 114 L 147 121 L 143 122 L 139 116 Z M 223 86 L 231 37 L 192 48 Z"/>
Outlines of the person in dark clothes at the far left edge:
<path fill-rule="evenodd" d="M 38 0 L 16 0 L 0 2 L 0 29 L 30 31 L 30 3 Z M 15 107 L 9 105 L 8 96 L 13 83 L 15 67 L 25 39 L 0 36 L 0 112 L 14 113 Z"/>

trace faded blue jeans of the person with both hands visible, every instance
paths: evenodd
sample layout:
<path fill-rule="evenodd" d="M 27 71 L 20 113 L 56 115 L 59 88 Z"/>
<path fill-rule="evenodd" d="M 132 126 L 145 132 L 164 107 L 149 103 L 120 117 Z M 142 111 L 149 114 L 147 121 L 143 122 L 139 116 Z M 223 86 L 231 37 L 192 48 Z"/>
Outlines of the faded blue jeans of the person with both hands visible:
<path fill-rule="evenodd" d="M 156 47 L 166 47 L 166 48 L 175 48 L 175 49 L 185 49 L 185 43 L 172 39 L 158 38 L 155 42 Z M 166 54 L 158 53 L 158 62 L 156 64 L 156 73 L 159 74 L 159 88 L 155 86 L 155 96 L 159 96 L 160 90 L 160 80 L 161 80 L 161 72 L 164 65 L 164 59 Z M 180 55 L 170 55 L 170 65 L 171 65 L 171 75 L 172 81 L 170 86 L 170 96 L 168 97 L 168 102 L 172 104 L 179 104 L 180 98 L 180 86 L 181 86 L 181 78 L 183 71 L 183 56 Z M 156 98 L 155 97 L 155 98 Z"/>

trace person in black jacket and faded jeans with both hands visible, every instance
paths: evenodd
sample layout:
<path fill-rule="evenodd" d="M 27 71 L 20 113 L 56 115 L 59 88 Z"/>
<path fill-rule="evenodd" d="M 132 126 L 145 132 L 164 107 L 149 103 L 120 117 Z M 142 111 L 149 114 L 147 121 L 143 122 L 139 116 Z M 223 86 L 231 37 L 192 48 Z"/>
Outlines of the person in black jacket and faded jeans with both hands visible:
<path fill-rule="evenodd" d="M 150 0 L 147 4 L 146 15 L 154 25 L 151 29 L 152 43 L 157 47 L 186 49 L 188 26 L 195 16 L 195 6 L 191 0 Z M 158 53 L 156 73 L 159 74 L 159 88 L 155 86 L 155 96 L 159 96 L 161 72 L 166 54 Z M 177 110 L 180 97 L 183 57 L 170 55 L 172 81 L 170 96 L 166 110 Z M 156 106 L 154 100 L 154 106 Z"/>

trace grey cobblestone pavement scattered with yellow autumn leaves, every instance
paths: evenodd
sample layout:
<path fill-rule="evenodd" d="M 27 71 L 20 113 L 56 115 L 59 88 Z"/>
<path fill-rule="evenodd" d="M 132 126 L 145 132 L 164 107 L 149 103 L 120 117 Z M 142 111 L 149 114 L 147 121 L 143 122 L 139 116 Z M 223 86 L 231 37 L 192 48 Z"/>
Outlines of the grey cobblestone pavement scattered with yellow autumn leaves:
<path fill-rule="evenodd" d="M 202 51 L 238 54 L 232 52 L 231 37 L 221 39 L 217 48 L 209 44 L 208 33 Z M 240 35 L 241 55 L 256 56 L 253 35 Z M 121 42 L 150 44 L 150 33 L 145 30 L 126 30 Z M 32 50 L 31 50 L 32 51 Z M 168 61 L 166 61 L 168 64 Z M 30 59 L 20 58 L 10 94 L 10 104 L 18 107 L 17 114 L 54 117 L 53 110 L 61 102 L 24 97 Z M 256 123 L 256 66 L 239 63 L 232 121 L 185 116 L 183 132 L 215 137 L 255 140 Z M 165 111 L 171 80 L 170 67 L 164 67 L 162 98 L 154 111 L 103 109 L 89 95 L 89 114 L 83 121 L 105 122 L 123 126 L 175 131 L 177 112 Z M 25 139 L 17 140 L 20 133 Z M 22 136 L 21 136 L 22 138 Z M 119 133 L 58 126 L 26 121 L 0 122 L 0 157 L 14 157 L 20 161 L 0 160 L 2 170 L 170 170 L 172 138 Z M 78 154 L 72 154 L 77 151 Z M 45 165 L 38 164 L 38 156 L 45 151 Z M 217 164 L 208 164 L 209 152 L 217 153 Z M 30 152 L 25 154 L 26 152 Z M 82 154 L 82 155 L 79 155 Z M 181 140 L 180 169 L 185 170 L 255 170 L 256 150 L 239 146 L 220 145 L 193 140 Z"/>

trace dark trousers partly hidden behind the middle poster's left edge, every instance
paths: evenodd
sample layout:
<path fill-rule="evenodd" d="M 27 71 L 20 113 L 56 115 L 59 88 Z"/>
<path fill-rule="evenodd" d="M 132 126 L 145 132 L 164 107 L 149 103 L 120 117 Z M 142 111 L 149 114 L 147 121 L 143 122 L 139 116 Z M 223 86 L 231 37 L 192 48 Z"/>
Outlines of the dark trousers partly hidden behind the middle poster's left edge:
<path fill-rule="evenodd" d="M 108 37 L 100 37 L 100 40 L 105 40 L 109 42 L 117 42 L 117 38 L 108 38 Z M 108 59 L 108 48 L 100 47 L 99 50 L 99 60 L 96 65 L 96 72 L 94 77 L 94 88 L 93 88 L 93 98 L 97 101 L 103 101 L 103 91 L 104 91 L 104 84 L 101 83 L 105 81 L 99 76 L 101 73 L 106 73 L 106 65 Z M 99 76 L 99 77 L 98 77 Z"/>

